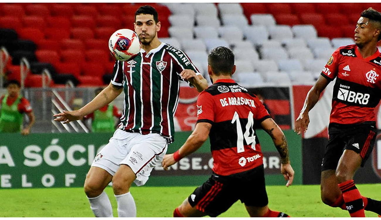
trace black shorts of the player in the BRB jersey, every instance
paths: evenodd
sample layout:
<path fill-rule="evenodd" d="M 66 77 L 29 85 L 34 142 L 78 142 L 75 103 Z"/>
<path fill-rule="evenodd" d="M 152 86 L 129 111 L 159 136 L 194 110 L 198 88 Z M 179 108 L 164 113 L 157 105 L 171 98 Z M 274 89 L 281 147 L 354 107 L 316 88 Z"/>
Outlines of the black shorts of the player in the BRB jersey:
<path fill-rule="evenodd" d="M 339 125 L 331 123 L 328 129 L 329 140 L 322 161 L 322 171 L 336 170 L 345 149 L 355 151 L 362 158 L 361 166 L 367 161 L 376 140 L 376 123 Z"/>

